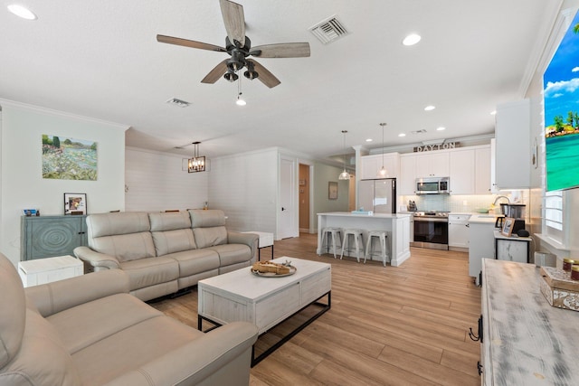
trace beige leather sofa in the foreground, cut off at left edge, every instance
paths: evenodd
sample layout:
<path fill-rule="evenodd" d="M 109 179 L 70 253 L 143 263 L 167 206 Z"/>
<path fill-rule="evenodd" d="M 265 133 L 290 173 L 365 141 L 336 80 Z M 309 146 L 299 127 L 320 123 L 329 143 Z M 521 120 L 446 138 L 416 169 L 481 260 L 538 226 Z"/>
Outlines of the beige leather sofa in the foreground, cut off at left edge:
<path fill-rule="evenodd" d="M 254 325 L 204 334 L 128 295 L 120 269 L 24 289 L 0 253 L 0 283 L 3 386 L 249 384 Z"/>

